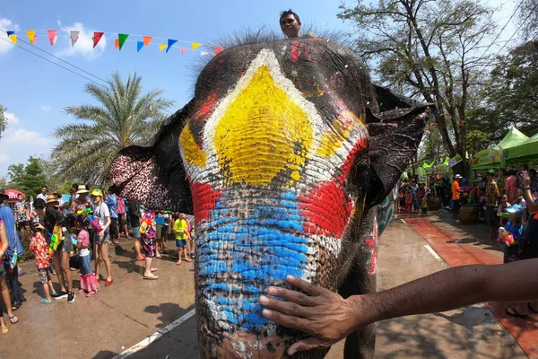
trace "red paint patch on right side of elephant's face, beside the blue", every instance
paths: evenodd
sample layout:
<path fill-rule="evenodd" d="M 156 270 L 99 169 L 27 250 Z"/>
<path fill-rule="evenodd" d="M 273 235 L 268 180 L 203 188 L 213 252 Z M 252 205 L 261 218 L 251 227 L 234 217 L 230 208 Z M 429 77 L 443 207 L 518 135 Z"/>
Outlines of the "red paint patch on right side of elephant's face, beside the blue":
<path fill-rule="evenodd" d="M 342 186 L 324 181 L 299 200 L 301 214 L 305 217 L 305 232 L 342 238 L 353 209 L 351 198 L 343 192 Z"/>

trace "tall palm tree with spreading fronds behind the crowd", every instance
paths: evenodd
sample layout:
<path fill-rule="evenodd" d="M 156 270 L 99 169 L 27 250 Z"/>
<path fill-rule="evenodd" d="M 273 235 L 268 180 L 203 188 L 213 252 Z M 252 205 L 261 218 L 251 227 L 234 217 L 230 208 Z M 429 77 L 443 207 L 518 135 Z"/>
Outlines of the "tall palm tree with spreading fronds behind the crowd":
<path fill-rule="evenodd" d="M 161 97 L 161 90 L 141 95 L 142 78 L 129 75 L 124 83 L 119 74 L 108 79 L 108 87 L 86 83 L 88 93 L 100 106 L 70 106 L 64 109 L 83 123 L 56 128 L 61 141 L 52 151 L 60 163 L 60 180 L 80 180 L 102 185 L 116 153 L 133 144 L 146 145 L 157 133 L 173 102 Z"/>

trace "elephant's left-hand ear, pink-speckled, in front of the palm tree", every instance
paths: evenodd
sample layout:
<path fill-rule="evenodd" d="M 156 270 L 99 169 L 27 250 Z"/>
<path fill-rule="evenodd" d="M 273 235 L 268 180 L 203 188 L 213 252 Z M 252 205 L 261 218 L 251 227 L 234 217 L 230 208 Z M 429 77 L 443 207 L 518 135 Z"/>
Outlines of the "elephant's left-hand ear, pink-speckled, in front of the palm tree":
<path fill-rule="evenodd" d="M 117 153 L 108 172 L 114 192 L 147 208 L 192 214 L 193 202 L 178 144 L 192 107 L 190 101 L 167 118 L 152 146 L 132 145 Z"/>

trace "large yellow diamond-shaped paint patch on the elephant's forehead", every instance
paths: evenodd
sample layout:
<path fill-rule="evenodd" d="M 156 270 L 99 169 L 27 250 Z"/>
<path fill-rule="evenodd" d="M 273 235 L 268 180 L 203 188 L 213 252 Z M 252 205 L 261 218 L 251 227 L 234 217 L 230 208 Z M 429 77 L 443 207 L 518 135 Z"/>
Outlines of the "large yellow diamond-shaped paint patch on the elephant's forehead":
<path fill-rule="evenodd" d="M 214 144 L 221 171 L 230 171 L 232 182 L 266 186 L 285 169 L 299 180 L 313 136 L 307 113 L 264 65 L 224 112 Z"/>

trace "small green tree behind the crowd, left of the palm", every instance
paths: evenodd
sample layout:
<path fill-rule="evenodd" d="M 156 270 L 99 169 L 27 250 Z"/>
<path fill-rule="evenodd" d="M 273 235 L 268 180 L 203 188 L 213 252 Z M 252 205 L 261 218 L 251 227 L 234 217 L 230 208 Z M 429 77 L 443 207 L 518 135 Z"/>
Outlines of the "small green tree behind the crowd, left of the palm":
<path fill-rule="evenodd" d="M 47 180 L 40 160 L 36 157 L 30 156 L 26 166 L 22 163 L 12 164 L 7 170 L 12 181 L 11 185 L 28 196 L 37 195 Z"/>

